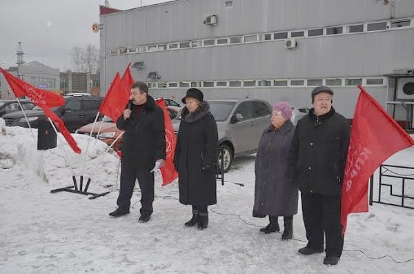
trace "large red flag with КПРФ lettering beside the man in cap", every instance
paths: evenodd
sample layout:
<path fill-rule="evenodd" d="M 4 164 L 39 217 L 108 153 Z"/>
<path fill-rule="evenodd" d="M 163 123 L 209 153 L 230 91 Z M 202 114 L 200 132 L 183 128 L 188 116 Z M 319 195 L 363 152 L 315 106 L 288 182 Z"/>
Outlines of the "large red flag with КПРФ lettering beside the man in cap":
<path fill-rule="evenodd" d="M 414 145 L 414 140 L 362 88 L 355 107 L 348 159 L 342 185 L 341 224 L 349 213 L 368 211 L 368 179 L 388 157 Z"/>

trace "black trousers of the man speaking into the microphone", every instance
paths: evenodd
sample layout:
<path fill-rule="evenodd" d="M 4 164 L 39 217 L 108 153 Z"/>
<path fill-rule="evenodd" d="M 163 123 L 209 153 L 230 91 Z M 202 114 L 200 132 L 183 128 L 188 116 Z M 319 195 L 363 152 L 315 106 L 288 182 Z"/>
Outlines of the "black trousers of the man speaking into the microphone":
<path fill-rule="evenodd" d="M 117 205 L 119 208 L 130 208 L 132 192 L 137 179 L 139 188 L 141 188 L 141 209 L 139 212 L 151 214 L 152 202 L 154 202 L 154 173 L 150 173 L 148 169 L 136 168 L 128 162 L 121 164 L 121 188 Z"/>

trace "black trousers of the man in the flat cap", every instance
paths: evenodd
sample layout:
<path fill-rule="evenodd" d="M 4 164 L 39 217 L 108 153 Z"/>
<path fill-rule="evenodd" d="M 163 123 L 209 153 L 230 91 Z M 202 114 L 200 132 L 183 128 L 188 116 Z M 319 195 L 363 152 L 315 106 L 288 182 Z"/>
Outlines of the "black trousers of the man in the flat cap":
<path fill-rule="evenodd" d="M 323 249 L 326 239 L 326 256 L 342 255 L 344 238 L 341 226 L 341 197 L 314 193 L 301 193 L 302 213 L 306 238 L 311 248 Z"/>

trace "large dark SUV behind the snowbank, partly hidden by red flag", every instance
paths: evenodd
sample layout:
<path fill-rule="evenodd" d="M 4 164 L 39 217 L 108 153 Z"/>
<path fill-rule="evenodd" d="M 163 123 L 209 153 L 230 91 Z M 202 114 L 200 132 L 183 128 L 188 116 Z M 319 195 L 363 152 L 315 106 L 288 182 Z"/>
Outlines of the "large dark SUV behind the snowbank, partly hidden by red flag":
<path fill-rule="evenodd" d="M 103 101 L 102 97 L 93 96 L 63 96 L 65 104 L 52 108 L 52 110 L 65 123 L 70 132 L 95 121 L 99 106 Z M 32 128 L 37 128 L 37 121 L 45 119 L 44 112 L 38 106 L 32 110 L 26 110 L 26 116 Z M 23 112 L 12 112 L 3 116 L 6 126 L 22 126 L 28 128 L 28 123 Z"/>

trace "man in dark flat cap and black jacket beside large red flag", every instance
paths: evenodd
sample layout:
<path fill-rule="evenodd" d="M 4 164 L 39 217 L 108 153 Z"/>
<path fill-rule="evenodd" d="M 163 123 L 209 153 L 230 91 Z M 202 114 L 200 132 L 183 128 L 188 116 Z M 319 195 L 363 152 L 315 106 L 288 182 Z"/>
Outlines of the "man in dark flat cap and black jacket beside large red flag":
<path fill-rule="evenodd" d="M 314 108 L 298 121 L 288 157 L 290 177 L 301 191 L 308 239 L 299 253 L 322 253 L 325 236 L 324 264 L 329 265 L 337 264 L 344 245 L 341 189 L 351 134 L 348 121 L 332 107 L 332 96 L 327 86 L 312 91 Z"/>

